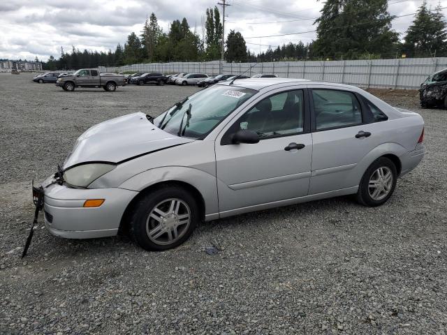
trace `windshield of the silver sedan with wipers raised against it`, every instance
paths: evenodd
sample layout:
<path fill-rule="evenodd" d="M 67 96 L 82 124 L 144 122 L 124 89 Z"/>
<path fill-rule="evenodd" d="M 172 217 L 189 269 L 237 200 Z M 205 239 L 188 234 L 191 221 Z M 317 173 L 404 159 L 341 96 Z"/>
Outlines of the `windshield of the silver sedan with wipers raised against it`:
<path fill-rule="evenodd" d="M 254 89 L 214 86 L 198 91 L 185 99 L 182 105 L 174 105 L 157 117 L 154 124 L 173 135 L 181 133 L 186 137 L 203 139 L 233 110 L 256 93 Z M 182 131 L 179 131 L 180 126 Z"/>

